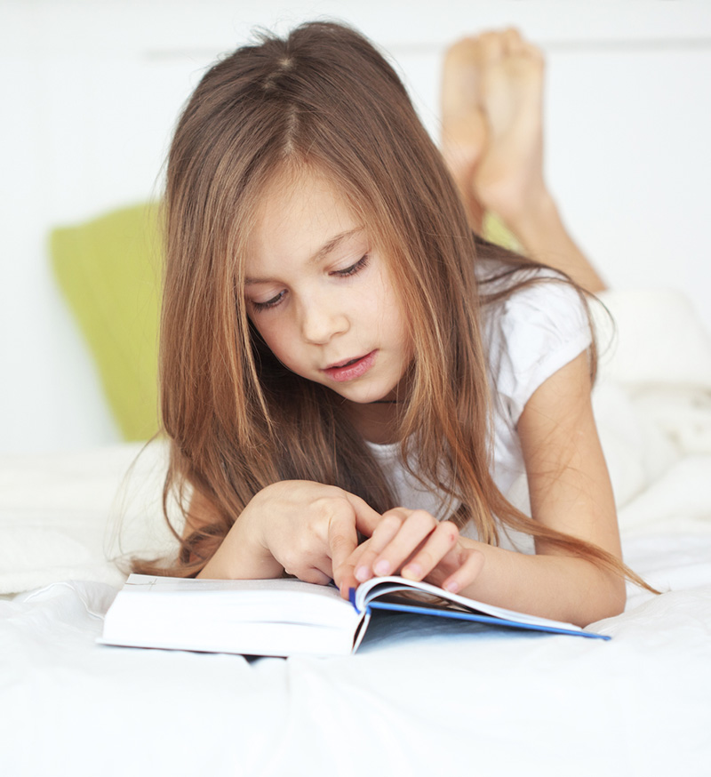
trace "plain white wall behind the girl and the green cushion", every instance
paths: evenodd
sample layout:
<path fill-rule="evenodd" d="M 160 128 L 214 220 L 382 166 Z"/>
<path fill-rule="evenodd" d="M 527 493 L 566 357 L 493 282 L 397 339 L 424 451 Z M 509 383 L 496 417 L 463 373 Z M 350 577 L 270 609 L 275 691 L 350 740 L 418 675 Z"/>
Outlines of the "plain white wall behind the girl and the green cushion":
<path fill-rule="evenodd" d="M 255 25 L 348 20 L 400 62 L 436 132 L 444 45 L 516 24 L 547 52 L 547 169 L 617 285 L 673 285 L 711 328 L 711 3 L 704 0 L 0 0 L 0 452 L 116 429 L 49 271 L 52 226 L 160 189 L 180 105 Z"/>

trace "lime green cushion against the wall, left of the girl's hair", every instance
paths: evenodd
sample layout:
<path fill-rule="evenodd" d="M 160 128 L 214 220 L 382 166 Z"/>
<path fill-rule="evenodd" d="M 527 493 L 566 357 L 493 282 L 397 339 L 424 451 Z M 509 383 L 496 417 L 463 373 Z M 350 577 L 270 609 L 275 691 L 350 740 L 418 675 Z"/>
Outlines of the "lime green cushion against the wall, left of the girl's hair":
<path fill-rule="evenodd" d="M 50 236 L 52 267 L 126 440 L 158 429 L 159 207 L 110 212 Z"/>

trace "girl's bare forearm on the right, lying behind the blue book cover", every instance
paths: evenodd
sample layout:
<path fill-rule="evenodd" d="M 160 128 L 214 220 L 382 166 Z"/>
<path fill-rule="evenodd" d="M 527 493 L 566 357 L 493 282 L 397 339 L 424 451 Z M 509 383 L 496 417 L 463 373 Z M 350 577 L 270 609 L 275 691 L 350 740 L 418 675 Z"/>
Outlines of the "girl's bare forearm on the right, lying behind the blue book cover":
<path fill-rule="evenodd" d="M 459 593 L 491 605 L 587 626 L 625 607 L 625 581 L 579 557 L 531 556 L 466 541 L 485 562 Z"/>

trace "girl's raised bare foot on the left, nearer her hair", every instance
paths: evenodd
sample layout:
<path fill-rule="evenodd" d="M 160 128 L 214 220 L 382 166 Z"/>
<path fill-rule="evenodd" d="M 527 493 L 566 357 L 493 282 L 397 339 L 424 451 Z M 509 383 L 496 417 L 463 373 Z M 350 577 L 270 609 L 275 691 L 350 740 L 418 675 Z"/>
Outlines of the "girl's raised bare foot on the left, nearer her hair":
<path fill-rule="evenodd" d="M 474 172 L 486 144 L 486 120 L 480 98 L 481 71 L 475 38 L 453 44 L 442 71 L 442 154 L 473 228 L 481 231 L 483 205 L 474 193 Z"/>

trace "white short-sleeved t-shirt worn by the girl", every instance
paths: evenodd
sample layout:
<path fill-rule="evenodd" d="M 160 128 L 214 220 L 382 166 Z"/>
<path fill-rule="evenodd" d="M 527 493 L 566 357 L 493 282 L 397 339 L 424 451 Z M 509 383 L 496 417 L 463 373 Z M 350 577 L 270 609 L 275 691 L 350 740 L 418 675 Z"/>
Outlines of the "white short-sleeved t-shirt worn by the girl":
<path fill-rule="evenodd" d="M 540 275 L 555 277 L 552 271 Z M 578 293 L 556 281 L 532 284 L 484 307 L 482 319 L 494 412 L 491 475 L 499 491 L 510 495 L 525 474 L 516 432 L 523 408 L 545 380 L 589 348 L 591 332 Z M 411 476 L 400 460 L 398 444 L 368 445 L 399 504 L 426 509 L 440 520 L 448 517 L 451 509 L 447 509 L 443 494 L 427 489 Z M 467 530 L 464 533 L 475 537 Z M 512 547 L 505 541 L 501 544 Z M 513 545 L 520 549 L 518 541 Z"/>

